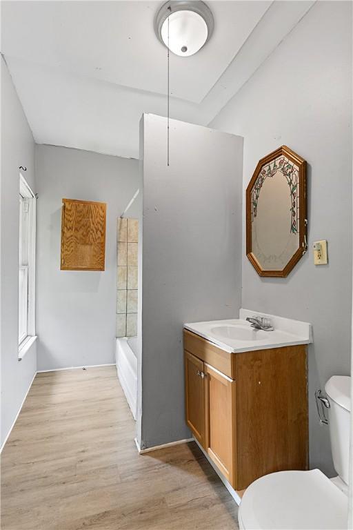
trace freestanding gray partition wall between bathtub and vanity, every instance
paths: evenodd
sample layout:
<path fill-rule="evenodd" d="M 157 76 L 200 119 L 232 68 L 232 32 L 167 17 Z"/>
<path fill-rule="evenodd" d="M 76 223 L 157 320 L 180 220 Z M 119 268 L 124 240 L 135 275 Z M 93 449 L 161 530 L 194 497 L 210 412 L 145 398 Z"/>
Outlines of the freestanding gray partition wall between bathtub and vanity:
<path fill-rule="evenodd" d="M 144 115 L 142 447 L 190 436 L 184 322 L 235 317 L 241 304 L 243 139 Z M 140 411 L 141 412 L 141 411 Z"/>

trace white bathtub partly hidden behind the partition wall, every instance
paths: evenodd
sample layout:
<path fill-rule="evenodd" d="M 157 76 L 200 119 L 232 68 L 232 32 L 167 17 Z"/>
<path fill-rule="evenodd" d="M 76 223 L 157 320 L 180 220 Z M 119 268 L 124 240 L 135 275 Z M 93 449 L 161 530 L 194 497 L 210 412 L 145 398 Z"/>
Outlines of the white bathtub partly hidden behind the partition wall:
<path fill-rule="evenodd" d="M 117 339 L 117 373 L 134 420 L 137 415 L 137 337 Z"/>

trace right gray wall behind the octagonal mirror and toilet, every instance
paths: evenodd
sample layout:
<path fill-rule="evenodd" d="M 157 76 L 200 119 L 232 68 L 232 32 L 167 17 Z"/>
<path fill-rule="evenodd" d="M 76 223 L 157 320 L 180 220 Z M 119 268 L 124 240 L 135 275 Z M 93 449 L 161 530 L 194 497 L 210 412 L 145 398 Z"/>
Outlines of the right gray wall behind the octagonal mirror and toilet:
<path fill-rule="evenodd" d="M 245 256 L 243 230 L 242 305 L 312 322 L 310 465 L 329 474 L 328 428 L 313 396 L 331 375 L 350 373 L 351 11 L 350 2 L 316 3 L 211 123 L 244 137 L 244 189 L 257 161 L 283 144 L 307 160 L 309 251 L 287 279 L 261 279 Z M 316 239 L 328 241 L 327 266 L 314 266 Z"/>

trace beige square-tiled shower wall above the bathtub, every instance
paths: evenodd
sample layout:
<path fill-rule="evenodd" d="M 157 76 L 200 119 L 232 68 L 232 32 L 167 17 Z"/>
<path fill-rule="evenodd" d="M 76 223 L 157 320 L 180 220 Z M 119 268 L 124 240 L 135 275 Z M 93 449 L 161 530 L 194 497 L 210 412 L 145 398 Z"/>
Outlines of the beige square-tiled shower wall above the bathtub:
<path fill-rule="evenodd" d="M 118 219 L 117 337 L 137 335 L 137 249 L 139 221 Z"/>

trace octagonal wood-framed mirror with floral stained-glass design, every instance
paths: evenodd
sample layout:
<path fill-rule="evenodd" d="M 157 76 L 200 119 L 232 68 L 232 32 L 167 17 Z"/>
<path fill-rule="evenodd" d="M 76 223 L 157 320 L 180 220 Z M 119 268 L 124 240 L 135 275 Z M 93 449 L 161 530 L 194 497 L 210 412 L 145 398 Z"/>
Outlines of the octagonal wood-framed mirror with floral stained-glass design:
<path fill-rule="evenodd" d="M 246 254 L 260 276 L 286 277 L 305 253 L 306 162 L 282 146 L 246 190 Z"/>

